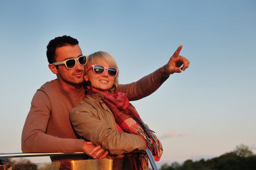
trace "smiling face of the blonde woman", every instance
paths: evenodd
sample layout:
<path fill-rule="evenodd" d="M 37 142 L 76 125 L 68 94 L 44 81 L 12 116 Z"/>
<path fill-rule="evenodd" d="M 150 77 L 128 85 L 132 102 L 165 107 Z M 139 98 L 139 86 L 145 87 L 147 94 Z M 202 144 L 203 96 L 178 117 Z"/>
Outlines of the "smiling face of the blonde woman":
<path fill-rule="evenodd" d="M 104 67 L 111 67 L 105 61 L 95 61 L 93 65 L 101 65 Z M 91 66 L 89 66 L 91 67 Z M 90 81 L 94 88 L 99 91 L 108 91 L 114 84 L 115 77 L 110 77 L 105 69 L 100 75 L 94 73 L 93 68 L 90 68 L 84 75 L 85 81 Z"/>

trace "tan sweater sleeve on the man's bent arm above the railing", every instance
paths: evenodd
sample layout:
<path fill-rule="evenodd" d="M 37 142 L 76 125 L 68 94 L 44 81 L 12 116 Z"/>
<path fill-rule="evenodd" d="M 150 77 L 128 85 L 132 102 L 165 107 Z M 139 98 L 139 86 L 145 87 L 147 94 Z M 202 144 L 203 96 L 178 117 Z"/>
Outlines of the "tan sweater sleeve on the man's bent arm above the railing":
<path fill-rule="evenodd" d="M 24 153 L 82 152 L 82 139 L 60 138 L 46 134 L 51 109 L 47 95 L 38 90 L 34 95 L 21 136 Z"/>

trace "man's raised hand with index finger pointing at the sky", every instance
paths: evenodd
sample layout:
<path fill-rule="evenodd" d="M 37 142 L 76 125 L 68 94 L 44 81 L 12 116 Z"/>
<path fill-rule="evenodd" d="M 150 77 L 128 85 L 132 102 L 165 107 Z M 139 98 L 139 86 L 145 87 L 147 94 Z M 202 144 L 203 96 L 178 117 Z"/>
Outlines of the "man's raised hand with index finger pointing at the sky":
<path fill-rule="evenodd" d="M 167 78 L 169 77 L 170 74 L 173 74 L 175 72 L 179 73 L 181 72 L 181 70 L 185 71 L 185 69 L 189 67 L 188 59 L 179 55 L 179 52 L 181 51 L 181 49 L 182 49 L 182 45 L 180 45 L 177 48 L 177 50 L 174 52 L 173 56 L 171 56 L 168 63 L 160 68 L 159 72 L 162 77 Z"/>

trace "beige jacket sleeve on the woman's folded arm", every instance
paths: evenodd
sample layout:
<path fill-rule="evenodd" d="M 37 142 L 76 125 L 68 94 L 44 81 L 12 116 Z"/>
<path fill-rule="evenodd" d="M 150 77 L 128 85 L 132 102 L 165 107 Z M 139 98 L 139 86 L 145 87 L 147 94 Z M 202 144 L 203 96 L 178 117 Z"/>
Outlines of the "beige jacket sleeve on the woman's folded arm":
<path fill-rule="evenodd" d="M 113 130 L 104 120 L 97 117 L 91 105 L 80 105 L 71 110 L 70 120 L 74 129 L 83 138 L 109 151 L 111 154 L 130 153 L 146 148 L 144 139 L 138 135 Z"/>

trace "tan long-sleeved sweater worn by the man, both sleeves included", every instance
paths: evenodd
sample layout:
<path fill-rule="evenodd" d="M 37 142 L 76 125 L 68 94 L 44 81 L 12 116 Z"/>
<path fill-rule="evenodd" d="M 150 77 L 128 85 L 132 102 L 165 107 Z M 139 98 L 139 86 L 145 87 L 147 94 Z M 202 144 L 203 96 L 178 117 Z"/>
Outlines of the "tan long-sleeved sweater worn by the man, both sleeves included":
<path fill-rule="evenodd" d="M 118 85 L 117 91 L 126 93 L 130 101 L 138 100 L 153 93 L 165 80 L 156 70 L 135 83 Z M 66 92 L 58 80 L 42 85 L 32 99 L 23 127 L 22 152 L 82 152 L 83 139 L 74 132 L 69 113 L 83 98 L 84 89 Z"/>

